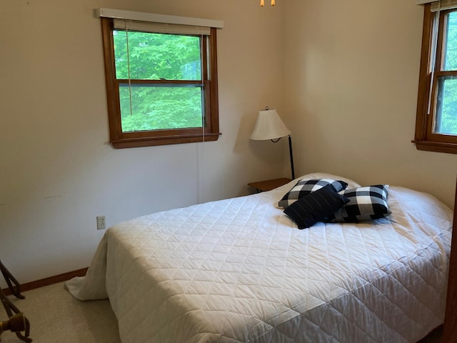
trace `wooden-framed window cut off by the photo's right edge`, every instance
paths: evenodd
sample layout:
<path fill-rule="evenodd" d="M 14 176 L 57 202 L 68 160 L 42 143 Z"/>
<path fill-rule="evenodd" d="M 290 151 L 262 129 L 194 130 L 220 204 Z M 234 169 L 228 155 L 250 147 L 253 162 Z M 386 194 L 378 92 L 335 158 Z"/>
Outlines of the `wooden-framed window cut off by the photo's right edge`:
<path fill-rule="evenodd" d="M 424 9 L 413 142 L 420 150 L 457 154 L 457 6 L 440 7 L 437 1 Z"/>

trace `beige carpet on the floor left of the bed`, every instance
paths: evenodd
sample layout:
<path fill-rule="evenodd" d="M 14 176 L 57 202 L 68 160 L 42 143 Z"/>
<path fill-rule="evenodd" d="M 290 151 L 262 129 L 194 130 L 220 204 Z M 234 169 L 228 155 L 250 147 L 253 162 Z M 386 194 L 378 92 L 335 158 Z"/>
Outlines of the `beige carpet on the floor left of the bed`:
<path fill-rule="evenodd" d="M 23 292 L 26 299 L 9 296 L 30 321 L 33 343 L 120 343 L 116 317 L 108 300 L 80 302 L 64 283 Z M 0 321 L 8 319 L 0 306 Z M 19 343 L 16 334 L 4 332 L 1 343 Z"/>

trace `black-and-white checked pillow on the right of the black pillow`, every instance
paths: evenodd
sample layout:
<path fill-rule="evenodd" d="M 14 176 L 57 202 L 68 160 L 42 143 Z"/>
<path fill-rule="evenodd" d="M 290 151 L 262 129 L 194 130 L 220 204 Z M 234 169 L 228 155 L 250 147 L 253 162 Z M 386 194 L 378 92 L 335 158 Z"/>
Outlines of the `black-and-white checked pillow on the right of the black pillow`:
<path fill-rule="evenodd" d="M 346 189 L 341 194 L 349 202 L 328 217 L 329 222 L 364 222 L 391 214 L 387 204 L 388 184 Z"/>

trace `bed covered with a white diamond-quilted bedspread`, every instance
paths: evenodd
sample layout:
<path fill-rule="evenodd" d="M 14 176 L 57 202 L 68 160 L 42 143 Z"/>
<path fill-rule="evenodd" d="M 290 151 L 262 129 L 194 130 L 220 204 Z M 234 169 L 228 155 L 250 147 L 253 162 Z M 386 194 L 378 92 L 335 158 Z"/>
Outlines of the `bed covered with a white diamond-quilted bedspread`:
<path fill-rule="evenodd" d="M 307 179 L 361 187 L 307 174 L 122 222 L 66 287 L 109 298 L 123 343 L 417 342 L 442 324 L 451 209 L 390 186 L 387 217 L 298 229 L 278 204 Z"/>

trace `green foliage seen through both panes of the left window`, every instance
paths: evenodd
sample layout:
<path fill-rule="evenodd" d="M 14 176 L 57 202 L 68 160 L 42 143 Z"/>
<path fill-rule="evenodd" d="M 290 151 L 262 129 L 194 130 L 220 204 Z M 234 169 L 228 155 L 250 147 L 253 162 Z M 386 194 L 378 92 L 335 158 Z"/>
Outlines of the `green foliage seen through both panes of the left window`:
<path fill-rule="evenodd" d="M 122 131 L 201 127 L 200 37 L 121 30 L 113 31 L 113 36 L 116 79 L 126 80 L 119 85 Z"/>

